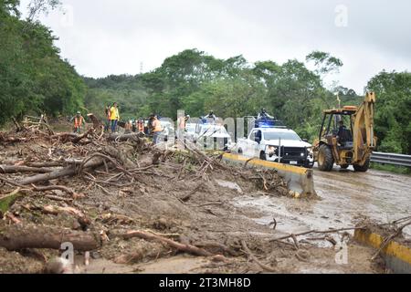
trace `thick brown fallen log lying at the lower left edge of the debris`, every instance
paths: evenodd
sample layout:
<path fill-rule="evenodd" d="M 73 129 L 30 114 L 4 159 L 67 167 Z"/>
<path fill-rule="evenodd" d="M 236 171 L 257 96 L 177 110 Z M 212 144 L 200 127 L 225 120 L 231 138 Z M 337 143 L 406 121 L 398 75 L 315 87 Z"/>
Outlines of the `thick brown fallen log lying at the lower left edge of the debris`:
<path fill-rule="evenodd" d="M 70 243 L 76 251 L 91 251 L 100 247 L 100 242 L 93 234 L 74 232 L 68 229 L 56 229 L 39 226 L 0 226 L 0 247 L 9 251 L 26 248 L 60 249 L 63 243 Z"/>

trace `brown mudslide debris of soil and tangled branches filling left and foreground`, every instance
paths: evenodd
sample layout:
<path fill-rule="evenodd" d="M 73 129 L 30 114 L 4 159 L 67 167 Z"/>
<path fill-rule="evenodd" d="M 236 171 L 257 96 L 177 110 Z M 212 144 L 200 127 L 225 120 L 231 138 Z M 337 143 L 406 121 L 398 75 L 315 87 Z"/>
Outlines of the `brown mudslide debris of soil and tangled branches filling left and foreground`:
<path fill-rule="evenodd" d="M 335 264 L 329 235 L 344 240 L 353 228 L 286 235 L 275 218 L 258 224 L 263 214 L 233 203 L 290 196 L 275 171 L 228 165 L 191 144 L 178 150 L 104 134 L 97 121 L 81 135 L 27 125 L 0 132 L 0 273 L 87 273 L 99 260 L 120 273 L 119 265 L 182 255 L 205 260 L 186 271 L 195 273 L 382 271 L 368 260 L 373 250 L 354 244 L 353 263 Z M 325 234 L 332 248 L 300 237 L 309 234 Z M 80 256 L 77 270 L 58 257 L 67 244 Z"/>

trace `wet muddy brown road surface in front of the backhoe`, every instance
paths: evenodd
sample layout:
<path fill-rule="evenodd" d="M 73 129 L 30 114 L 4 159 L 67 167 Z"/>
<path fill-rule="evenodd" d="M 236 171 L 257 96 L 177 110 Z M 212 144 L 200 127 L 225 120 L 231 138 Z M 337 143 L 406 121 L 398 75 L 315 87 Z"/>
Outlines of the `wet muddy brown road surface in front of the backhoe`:
<path fill-rule="evenodd" d="M 411 215 L 411 176 L 389 172 L 332 172 L 314 169 L 315 189 L 321 201 L 299 201 L 268 196 L 242 196 L 235 204 L 256 208 L 259 224 L 277 221 L 276 234 L 353 226 L 360 217 L 386 223 Z M 411 238 L 411 228 L 404 231 Z"/>

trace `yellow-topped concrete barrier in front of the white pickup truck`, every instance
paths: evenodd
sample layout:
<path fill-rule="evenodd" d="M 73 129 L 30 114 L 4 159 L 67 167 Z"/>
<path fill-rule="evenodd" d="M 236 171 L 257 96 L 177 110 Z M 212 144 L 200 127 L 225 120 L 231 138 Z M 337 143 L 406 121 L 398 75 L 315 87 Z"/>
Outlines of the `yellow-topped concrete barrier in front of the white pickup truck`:
<path fill-rule="evenodd" d="M 298 197 L 317 196 L 314 189 L 314 172 L 312 170 L 289 164 L 261 161 L 257 158 L 250 160 L 237 154 L 224 154 L 223 160 L 242 165 L 247 163 L 248 167 L 276 170 L 279 176 L 288 183 L 289 190 L 298 194 Z"/>

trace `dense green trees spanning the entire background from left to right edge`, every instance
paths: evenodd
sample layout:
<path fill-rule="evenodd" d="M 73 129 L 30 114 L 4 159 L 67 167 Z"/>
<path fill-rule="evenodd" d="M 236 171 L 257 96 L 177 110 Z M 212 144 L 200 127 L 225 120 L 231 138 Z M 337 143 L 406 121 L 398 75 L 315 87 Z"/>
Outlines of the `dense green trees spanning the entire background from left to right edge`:
<path fill-rule="evenodd" d="M 184 109 L 192 117 L 214 110 L 220 117 L 244 117 L 261 108 L 313 141 L 321 110 L 360 104 L 353 89 L 326 87 L 323 79 L 338 72 L 342 60 L 320 51 L 306 62 L 250 64 L 241 56 L 219 59 L 196 49 L 168 57 L 160 68 L 136 76 L 80 78 L 53 45 L 55 37 L 36 21 L 36 13 L 58 0 L 36 0 L 23 20 L 18 0 L 0 0 L 0 124 L 29 111 L 72 115 L 88 110 L 103 117 L 104 107 L 120 103 L 122 119 L 156 112 L 175 119 Z M 307 64 L 314 69 L 309 69 Z M 377 94 L 375 130 L 380 151 L 411 154 L 411 73 L 385 72 L 370 80 Z"/>

